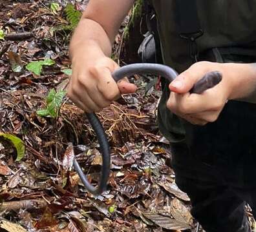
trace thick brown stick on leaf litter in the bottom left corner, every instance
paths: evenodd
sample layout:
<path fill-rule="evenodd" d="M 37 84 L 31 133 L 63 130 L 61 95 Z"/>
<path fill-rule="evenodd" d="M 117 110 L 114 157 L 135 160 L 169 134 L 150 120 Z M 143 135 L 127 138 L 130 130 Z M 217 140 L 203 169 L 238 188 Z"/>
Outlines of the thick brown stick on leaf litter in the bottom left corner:
<path fill-rule="evenodd" d="M 0 211 L 11 211 L 19 209 L 42 209 L 47 206 L 47 202 L 41 199 L 30 199 L 30 200 L 14 200 L 10 202 L 3 202 L 0 204 Z"/>

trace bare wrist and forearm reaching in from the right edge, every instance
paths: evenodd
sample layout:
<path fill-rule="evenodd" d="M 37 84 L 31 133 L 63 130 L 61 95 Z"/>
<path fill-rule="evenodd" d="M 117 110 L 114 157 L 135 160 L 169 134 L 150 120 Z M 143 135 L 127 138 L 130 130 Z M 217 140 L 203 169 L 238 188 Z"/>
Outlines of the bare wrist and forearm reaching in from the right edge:
<path fill-rule="evenodd" d="M 256 63 L 227 63 L 225 66 L 234 83 L 229 99 L 256 103 Z"/>

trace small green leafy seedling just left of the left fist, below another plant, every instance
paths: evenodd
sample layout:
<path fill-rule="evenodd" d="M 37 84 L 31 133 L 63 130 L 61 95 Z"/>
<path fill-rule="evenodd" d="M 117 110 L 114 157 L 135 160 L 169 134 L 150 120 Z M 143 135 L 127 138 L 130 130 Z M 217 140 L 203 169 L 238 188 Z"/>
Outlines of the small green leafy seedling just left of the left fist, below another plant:
<path fill-rule="evenodd" d="M 63 90 L 56 92 L 56 90 L 51 89 L 46 98 L 47 107 L 42 110 L 37 110 L 37 115 L 41 117 L 50 116 L 56 119 L 59 113 L 59 109 L 61 108 L 63 98 L 65 97 L 66 93 L 67 92 Z"/>

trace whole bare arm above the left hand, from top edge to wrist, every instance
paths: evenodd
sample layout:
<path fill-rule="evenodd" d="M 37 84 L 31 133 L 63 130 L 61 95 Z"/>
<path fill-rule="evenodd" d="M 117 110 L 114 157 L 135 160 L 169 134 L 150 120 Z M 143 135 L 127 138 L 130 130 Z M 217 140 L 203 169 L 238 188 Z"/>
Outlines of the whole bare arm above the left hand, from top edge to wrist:
<path fill-rule="evenodd" d="M 133 3 L 134 0 L 91 0 L 72 37 L 70 58 L 82 52 L 92 57 L 98 53 L 110 56 L 114 38 Z"/>

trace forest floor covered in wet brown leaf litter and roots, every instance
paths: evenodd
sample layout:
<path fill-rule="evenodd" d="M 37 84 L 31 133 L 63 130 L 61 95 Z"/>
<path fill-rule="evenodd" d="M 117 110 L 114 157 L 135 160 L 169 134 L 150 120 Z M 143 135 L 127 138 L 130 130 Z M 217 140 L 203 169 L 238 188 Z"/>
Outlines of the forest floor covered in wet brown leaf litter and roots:
<path fill-rule="evenodd" d="M 132 77 L 142 88 L 98 113 L 111 145 L 108 189 L 98 197 L 72 168 L 75 156 L 97 183 L 101 155 L 85 113 L 61 96 L 59 110 L 37 114 L 69 81 L 67 3 L 82 11 L 87 1 L 0 2 L 0 231 L 197 231 L 158 132 L 161 93 L 151 77 Z"/>

